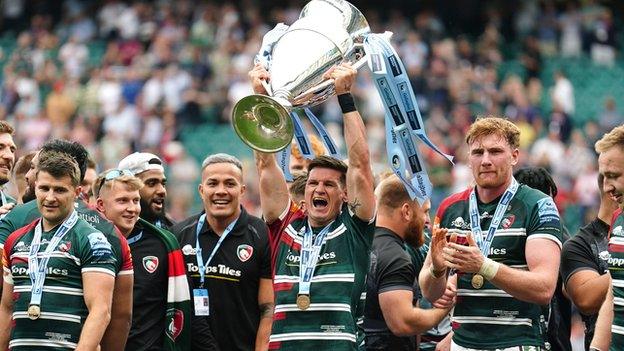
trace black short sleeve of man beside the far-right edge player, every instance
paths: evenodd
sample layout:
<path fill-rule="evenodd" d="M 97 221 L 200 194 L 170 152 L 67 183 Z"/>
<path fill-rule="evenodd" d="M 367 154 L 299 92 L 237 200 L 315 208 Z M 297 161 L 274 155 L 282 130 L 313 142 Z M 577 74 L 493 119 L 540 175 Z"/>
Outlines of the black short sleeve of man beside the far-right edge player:
<path fill-rule="evenodd" d="M 599 274 L 604 274 L 604 272 L 600 271 L 600 266 L 595 261 L 589 243 L 582 240 L 580 236 L 576 236 L 566 241 L 561 250 L 561 267 L 559 271 L 563 283 L 567 284 L 574 273 L 582 270 L 592 270 Z"/>

